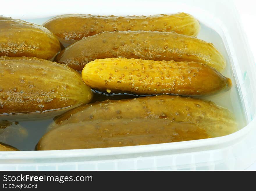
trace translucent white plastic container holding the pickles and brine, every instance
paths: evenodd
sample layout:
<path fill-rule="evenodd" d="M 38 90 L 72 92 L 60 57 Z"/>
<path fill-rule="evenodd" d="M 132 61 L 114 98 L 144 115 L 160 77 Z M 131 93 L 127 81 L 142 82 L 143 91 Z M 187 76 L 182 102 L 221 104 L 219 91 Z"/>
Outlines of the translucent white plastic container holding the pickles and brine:
<path fill-rule="evenodd" d="M 10 13 L 5 16 L 42 24 L 51 16 L 67 13 L 93 15 L 189 13 L 200 21 L 201 32 L 198 38 L 212 42 L 225 56 L 227 69 L 223 74 L 233 81 L 233 87 L 229 92 L 205 97 L 205 99 L 233 111 L 240 130 L 218 138 L 154 145 L 62 151 L 0 152 L 0 169 L 240 170 L 246 169 L 256 160 L 256 97 L 253 94 L 256 89 L 254 75 L 256 66 L 248 49 L 249 46 L 233 1 L 118 1 L 117 4 L 102 1 L 102 3 L 86 4 L 86 6 L 84 2 L 80 3 L 74 3 L 74 6 L 68 8 L 62 4 L 56 10 L 45 9 L 45 13 L 41 8 L 38 13 L 33 13 L 34 15 L 28 13 L 24 17 L 17 15 L 19 13 L 13 13 L 13 15 Z"/>

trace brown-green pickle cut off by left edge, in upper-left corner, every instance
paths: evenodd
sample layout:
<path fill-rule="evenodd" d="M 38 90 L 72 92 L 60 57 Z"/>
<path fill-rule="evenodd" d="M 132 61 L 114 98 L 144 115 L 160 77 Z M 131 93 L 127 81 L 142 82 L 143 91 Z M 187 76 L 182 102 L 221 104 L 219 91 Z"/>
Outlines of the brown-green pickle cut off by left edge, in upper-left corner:
<path fill-rule="evenodd" d="M 0 56 L 35 56 L 50 60 L 59 51 L 59 40 L 47 28 L 0 16 Z"/>

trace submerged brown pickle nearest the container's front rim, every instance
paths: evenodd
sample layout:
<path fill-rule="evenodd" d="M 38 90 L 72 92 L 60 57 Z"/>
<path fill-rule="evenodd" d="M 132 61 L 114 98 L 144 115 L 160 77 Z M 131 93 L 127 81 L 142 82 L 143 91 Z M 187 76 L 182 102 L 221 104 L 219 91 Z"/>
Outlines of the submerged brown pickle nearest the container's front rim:
<path fill-rule="evenodd" d="M 37 150 L 90 149 L 211 138 L 207 131 L 186 122 L 166 119 L 93 120 L 61 125 L 46 133 Z"/>

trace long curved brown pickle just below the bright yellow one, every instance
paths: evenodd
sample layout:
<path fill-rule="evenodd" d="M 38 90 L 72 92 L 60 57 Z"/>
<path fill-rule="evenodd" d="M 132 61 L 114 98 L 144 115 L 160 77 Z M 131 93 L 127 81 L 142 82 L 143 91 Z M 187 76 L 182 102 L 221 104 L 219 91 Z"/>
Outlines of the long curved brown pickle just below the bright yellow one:
<path fill-rule="evenodd" d="M 227 109 L 213 102 L 202 99 L 159 95 L 139 97 L 135 99 L 106 100 L 77 107 L 56 117 L 57 124 L 71 124 L 82 121 L 164 118 L 173 122 L 189 122 L 197 124 L 216 134 L 223 136 L 237 131 L 234 115 Z"/>

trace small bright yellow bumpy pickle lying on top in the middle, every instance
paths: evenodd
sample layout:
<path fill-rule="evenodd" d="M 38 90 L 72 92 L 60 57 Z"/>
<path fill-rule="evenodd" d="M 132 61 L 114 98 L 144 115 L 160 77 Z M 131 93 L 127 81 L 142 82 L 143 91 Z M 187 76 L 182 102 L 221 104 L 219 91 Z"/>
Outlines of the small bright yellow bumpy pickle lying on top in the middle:
<path fill-rule="evenodd" d="M 82 71 L 84 83 L 107 92 L 209 95 L 231 87 L 231 80 L 202 63 L 127 58 L 97 59 Z"/>

